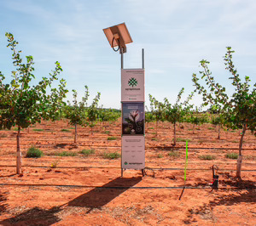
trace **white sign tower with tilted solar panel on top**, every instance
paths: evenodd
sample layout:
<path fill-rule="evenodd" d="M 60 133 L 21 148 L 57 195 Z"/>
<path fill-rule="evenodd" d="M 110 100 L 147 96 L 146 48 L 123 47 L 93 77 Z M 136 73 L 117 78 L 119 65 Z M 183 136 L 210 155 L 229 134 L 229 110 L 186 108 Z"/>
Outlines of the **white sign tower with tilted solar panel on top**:
<path fill-rule="evenodd" d="M 114 51 L 121 54 L 121 105 L 122 105 L 122 157 L 121 176 L 124 169 L 145 168 L 145 71 L 144 50 L 141 69 L 124 69 L 125 44 L 131 36 L 125 23 L 103 29 Z M 118 47 L 117 49 L 114 49 Z"/>

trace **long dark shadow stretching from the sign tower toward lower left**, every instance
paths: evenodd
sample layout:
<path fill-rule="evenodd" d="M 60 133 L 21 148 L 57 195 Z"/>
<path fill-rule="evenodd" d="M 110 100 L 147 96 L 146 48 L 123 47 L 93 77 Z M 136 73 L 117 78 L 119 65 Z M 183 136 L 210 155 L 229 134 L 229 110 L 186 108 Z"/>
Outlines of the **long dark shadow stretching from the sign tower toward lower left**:
<path fill-rule="evenodd" d="M 61 221 L 61 218 L 58 217 L 58 213 L 61 212 L 65 206 L 86 207 L 89 208 L 89 211 L 87 212 L 89 213 L 94 208 L 100 209 L 102 206 L 108 204 L 108 202 L 113 201 L 113 199 L 139 183 L 141 180 L 142 178 L 115 178 L 108 184 L 92 189 L 64 205 L 54 206 L 49 210 L 34 207 L 25 212 L 21 212 L 13 218 L 1 221 L 0 225 L 52 225 L 53 223 Z M 1 208 L 5 210 L 5 206 L 2 206 L 1 204 L 2 200 L 6 201 L 6 198 L 4 198 L 4 195 L 0 194 L 0 210 Z"/>

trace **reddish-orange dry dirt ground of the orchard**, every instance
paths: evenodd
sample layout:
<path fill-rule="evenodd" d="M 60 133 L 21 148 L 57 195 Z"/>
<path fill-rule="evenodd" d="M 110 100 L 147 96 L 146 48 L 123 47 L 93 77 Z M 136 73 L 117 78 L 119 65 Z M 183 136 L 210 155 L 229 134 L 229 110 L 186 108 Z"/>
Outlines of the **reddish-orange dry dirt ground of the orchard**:
<path fill-rule="evenodd" d="M 16 131 L 0 131 L 0 225 L 256 225 L 256 139 L 247 132 L 241 180 L 236 160 L 241 131 L 221 131 L 211 124 L 177 128 L 146 126 L 146 169 L 121 177 L 120 121 L 74 129 L 67 121 L 43 121 L 21 132 L 23 175 L 15 174 Z M 109 137 L 116 139 L 108 140 Z M 189 162 L 184 186 L 185 140 Z M 44 152 L 26 158 L 31 146 Z M 88 156 L 81 150 L 94 150 Z M 74 156 L 61 156 L 61 153 Z M 171 153 L 171 154 L 170 154 Z M 206 160 L 212 158 L 212 160 Z M 212 165 L 218 189 L 212 189 Z M 182 195 L 183 191 L 183 195 Z"/>

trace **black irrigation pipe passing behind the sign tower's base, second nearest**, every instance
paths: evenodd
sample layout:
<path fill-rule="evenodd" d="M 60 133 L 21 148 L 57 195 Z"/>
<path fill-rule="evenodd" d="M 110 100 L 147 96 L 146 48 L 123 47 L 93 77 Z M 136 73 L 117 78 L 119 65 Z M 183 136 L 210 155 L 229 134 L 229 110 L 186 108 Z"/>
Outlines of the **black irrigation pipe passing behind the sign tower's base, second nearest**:
<path fill-rule="evenodd" d="M 0 165 L 0 167 L 16 167 L 16 166 L 7 166 L 7 165 Z M 51 167 L 46 167 L 46 166 L 27 166 L 24 165 L 22 167 L 32 167 L 32 168 L 51 168 Z M 121 167 L 56 167 L 55 169 L 121 169 Z M 146 167 L 145 170 L 184 170 L 184 168 L 151 168 L 151 167 Z M 191 171 L 212 171 L 212 168 L 187 168 L 187 170 Z M 218 171 L 236 171 L 236 169 L 218 169 Z M 256 172 L 255 170 L 241 170 L 242 172 Z"/>

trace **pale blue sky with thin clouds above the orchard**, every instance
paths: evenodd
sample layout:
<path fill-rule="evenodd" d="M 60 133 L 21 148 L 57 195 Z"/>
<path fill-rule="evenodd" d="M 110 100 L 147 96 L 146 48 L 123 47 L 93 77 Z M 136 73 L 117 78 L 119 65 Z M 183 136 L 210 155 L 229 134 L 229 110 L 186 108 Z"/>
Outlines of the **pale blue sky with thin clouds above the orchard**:
<path fill-rule="evenodd" d="M 193 91 L 192 74 L 200 60 L 211 62 L 215 80 L 231 92 L 223 56 L 236 53 L 241 77 L 256 77 L 256 2 L 253 0 L 0 0 L 0 71 L 13 71 L 5 32 L 20 42 L 22 56 L 32 55 L 38 81 L 61 63 L 61 77 L 79 98 L 88 85 L 90 99 L 102 93 L 100 105 L 120 108 L 120 56 L 102 29 L 125 22 L 133 42 L 127 45 L 125 68 L 140 68 L 145 50 L 148 93 L 171 103 L 181 88 Z M 195 96 L 194 103 L 200 102 Z"/>

